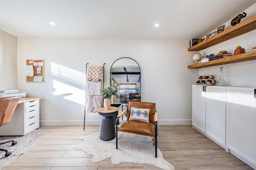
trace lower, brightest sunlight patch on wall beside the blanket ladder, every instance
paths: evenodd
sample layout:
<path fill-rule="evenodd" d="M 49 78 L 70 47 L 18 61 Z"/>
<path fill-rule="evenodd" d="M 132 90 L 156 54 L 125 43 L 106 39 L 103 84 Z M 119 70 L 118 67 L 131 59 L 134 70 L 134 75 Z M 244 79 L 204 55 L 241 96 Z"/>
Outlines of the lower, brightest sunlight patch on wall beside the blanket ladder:
<path fill-rule="evenodd" d="M 85 91 L 76 87 L 61 83 L 53 80 L 53 88 L 55 89 L 53 95 L 63 97 L 66 100 L 84 105 L 85 103 Z"/>

